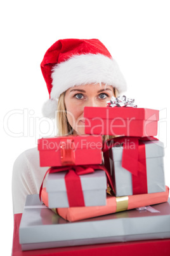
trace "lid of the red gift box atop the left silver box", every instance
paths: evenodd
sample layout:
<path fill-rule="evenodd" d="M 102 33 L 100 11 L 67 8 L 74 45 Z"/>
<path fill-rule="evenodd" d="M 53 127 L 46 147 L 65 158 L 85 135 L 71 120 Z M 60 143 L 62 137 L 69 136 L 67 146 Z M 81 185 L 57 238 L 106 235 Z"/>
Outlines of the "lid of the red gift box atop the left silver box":
<path fill-rule="evenodd" d="M 72 150 L 77 149 L 98 149 L 102 148 L 102 138 L 101 135 L 72 135 L 72 136 L 56 136 L 56 137 L 46 137 L 38 139 L 38 150 L 58 150 L 60 149 L 61 142 L 65 143 L 66 148 Z"/>

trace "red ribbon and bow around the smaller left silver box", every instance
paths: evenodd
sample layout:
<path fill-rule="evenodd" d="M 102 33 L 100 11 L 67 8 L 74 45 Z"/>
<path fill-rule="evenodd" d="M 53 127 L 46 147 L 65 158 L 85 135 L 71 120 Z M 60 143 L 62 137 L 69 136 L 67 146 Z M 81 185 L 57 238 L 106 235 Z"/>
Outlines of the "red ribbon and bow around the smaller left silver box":
<path fill-rule="evenodd" d="M 94 173 L 96 170 L 103 170 L 107 174 L 107 182 L 114 190 L 114 184 L 112 181 L 112 177 L 110 173 L 107 171 L 105 166 L 93 164 L 93 165 L 86 165 L 86 166 L 63 166 L 63 167 L 50 167 L 46 174 L 48 173 L 58 173 L 60 171 L 68 171 L 65 175 L 65 185 L 67 190 L 67 198 L 69 201 L 70 207 L 77 207 L 77 206 L 85 206 L 84 204 L 84 196 L 82 192 L 81 186 L 81 179 L 79 175 L 82 174 L 89 174 Z M 46 174 L 42 180 L 42 184 L 39 190 L 39 199 L 41 200 L 41 192 L 44 179 L 46 178 Z"/>

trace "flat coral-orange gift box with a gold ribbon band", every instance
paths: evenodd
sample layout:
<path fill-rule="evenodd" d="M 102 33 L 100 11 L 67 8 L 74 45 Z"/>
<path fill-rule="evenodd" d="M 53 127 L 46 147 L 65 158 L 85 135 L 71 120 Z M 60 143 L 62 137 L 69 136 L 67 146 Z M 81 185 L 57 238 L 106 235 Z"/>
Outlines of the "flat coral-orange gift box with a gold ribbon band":
<path fill-rule="evenodd" d="M 164 203 L 168 200 L 168 196 L 169 188 L 166 186 L 166 191 L 159 193 L 124 197 L 107 195 L 106 206 L 57 208 L 53 209 L 53 211 L 55 211 L 65 220 L 75 222 L 77 220 L 98 217 L 101 215 L 116 213 L 118 211 L 126 211 L 152 204 Z M 46 206 L 48 205 L 48 196 L 45 188 L 42 191 L 42 201 Z"/>

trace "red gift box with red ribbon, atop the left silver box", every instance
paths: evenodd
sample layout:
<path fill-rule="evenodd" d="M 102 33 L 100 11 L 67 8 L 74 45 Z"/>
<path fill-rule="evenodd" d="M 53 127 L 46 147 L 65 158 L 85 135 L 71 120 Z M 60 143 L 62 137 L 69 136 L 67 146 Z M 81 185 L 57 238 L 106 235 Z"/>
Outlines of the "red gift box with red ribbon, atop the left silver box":
<path fill-rule="evenodd" d="M 40 166 L 101 164 L 101 136 L 65 136 L 38 140 Z"/>

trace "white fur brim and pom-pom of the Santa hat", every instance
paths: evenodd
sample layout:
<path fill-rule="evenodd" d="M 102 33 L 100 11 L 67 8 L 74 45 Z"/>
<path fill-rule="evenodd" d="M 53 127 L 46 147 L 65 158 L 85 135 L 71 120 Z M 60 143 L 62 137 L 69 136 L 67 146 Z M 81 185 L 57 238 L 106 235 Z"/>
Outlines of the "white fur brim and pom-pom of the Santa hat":
<path fill-rule="evenodd" d="M 105 83 L 115 87 L 119 93 L 126 90 L 126 82 L 117 62 L 102 54 L 74 55 L 69 60 L 56 64 L 51 78 L 51 99 L 42 108 L 42 114 L 49 118 L 55 118 L 60 94 L 75 85 Z"/>

